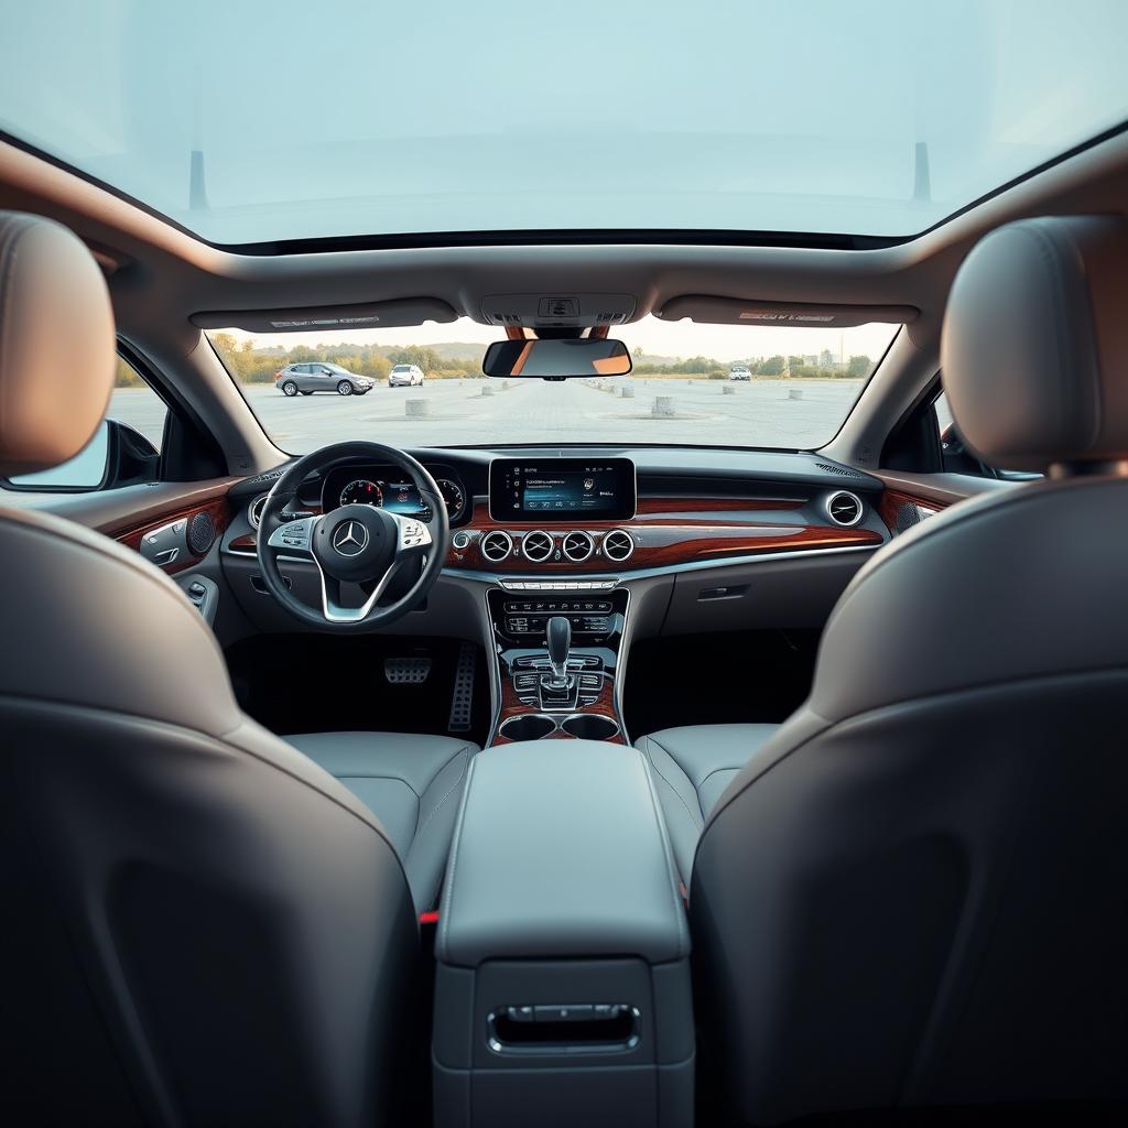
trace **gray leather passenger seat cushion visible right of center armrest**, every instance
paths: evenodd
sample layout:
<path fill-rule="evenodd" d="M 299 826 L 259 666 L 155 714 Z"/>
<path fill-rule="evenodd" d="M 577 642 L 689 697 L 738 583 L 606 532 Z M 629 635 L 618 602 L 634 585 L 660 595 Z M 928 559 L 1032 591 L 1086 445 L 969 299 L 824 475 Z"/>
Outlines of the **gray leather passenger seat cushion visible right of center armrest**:
<path fill-rule="evenodd" d="M 705 819 L 737 773 L 775 733 L 777 724 L 708 724 L 640 737 L 650 760 L 673 857 L 686 887 Z"/>

